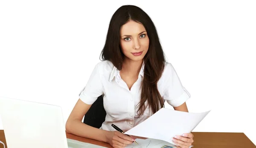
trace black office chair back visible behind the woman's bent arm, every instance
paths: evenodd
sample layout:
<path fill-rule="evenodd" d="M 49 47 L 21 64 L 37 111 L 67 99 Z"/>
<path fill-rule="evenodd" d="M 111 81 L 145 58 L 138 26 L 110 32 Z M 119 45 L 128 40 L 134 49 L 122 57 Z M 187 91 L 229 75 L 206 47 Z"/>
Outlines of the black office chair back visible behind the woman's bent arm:
<path fill-rule="evenodd" d="M 106 111 L 103 107 L 103 96 L 99 96 L 84 115 L 84 123 L 94 128 L 100 128 L 105 121 L 105 117 Z"/>

